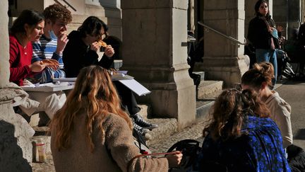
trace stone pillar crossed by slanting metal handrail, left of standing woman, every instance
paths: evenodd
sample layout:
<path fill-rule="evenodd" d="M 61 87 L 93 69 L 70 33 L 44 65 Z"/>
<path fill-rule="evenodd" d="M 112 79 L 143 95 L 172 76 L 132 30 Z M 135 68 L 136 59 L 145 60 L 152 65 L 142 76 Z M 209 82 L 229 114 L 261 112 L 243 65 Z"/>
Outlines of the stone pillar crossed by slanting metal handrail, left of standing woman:
<path fill-rule="evenodd" d="M 204 1 L 203 23 L 232 38 L 244 42 L 244 0 Z M 247 71 L 249 57 L 244 56 L 244 45 L 222 37 L 212 30 L 204 31 L 203 63 L 196 70 L 205 71 L 206 79 L 222 80 L 225 87 L 239 83 Z"/>

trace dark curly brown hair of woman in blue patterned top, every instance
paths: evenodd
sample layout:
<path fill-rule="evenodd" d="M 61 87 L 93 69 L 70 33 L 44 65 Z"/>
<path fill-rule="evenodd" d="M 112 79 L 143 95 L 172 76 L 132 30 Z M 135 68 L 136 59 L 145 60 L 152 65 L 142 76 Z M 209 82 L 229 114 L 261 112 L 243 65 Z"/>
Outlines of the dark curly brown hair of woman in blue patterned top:
<path fill-rule="evenodd" d="M 255 91 L 227 89 L 222 91 L 210 111 L 210 122 L 203 136 L 211 134 L 213 140 L 234 139 L 241 136 L 241 127 L 248 115 L 269 117 L 270 111 Z"/>

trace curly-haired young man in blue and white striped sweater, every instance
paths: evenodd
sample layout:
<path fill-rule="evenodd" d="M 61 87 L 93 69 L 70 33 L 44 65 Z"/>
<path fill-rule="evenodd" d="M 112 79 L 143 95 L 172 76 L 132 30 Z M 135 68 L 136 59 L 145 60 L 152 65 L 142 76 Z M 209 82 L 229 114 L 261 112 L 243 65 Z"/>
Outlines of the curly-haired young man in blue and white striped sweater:
<path fill-rule="evenodd" d="M 43 11 L 44 28 L 40 40 L 32 42 L 32 63 L 43 59 L 54 59 L 59 62 L 59 69 L 46 67 L 39 74 L 35 74 L 35 81 L 42 83 L 52 82 L 54 78 L 64 78 L 64 63 L 62 52 L 68 42 L 66 35 L 67 25 L 72 21 L 71 12 L 64 6 L 53 4 Z"/>

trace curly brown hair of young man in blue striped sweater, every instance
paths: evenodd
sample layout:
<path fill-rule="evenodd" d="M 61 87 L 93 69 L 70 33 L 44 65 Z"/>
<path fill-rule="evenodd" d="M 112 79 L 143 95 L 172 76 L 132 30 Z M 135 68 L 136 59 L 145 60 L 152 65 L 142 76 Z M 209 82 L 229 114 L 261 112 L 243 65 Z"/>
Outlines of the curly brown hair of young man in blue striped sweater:
<path fill-rule="evenodd" d="M 72 15 L 71 11 L 59 4 L 53 4 L 44 9 L 43 15 L 45 19 L 50 19 L 52 23 L 55 23 L 56 19 L 64 21 L 65 24 L 71 23 Z"/>

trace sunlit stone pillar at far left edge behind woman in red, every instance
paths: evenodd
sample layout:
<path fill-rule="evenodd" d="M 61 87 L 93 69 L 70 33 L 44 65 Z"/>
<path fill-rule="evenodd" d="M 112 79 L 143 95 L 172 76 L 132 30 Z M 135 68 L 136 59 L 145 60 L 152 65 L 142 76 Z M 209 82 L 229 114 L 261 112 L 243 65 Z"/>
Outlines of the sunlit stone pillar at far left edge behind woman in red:
<path fill-rule="evenodd" d="M 14 89 L 8 81 L 8 1 L 0 1 L 0 6 L 0 171 L 32 171 L 32 134 L 13 111 Z"/>

